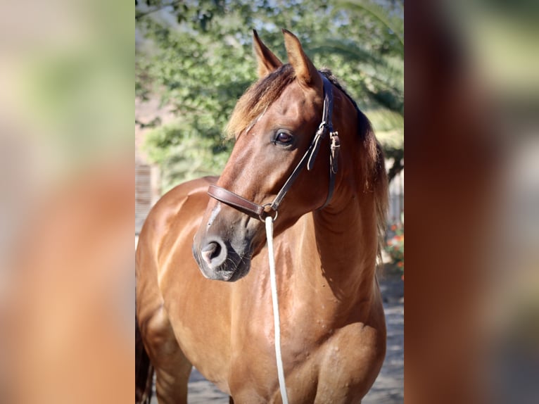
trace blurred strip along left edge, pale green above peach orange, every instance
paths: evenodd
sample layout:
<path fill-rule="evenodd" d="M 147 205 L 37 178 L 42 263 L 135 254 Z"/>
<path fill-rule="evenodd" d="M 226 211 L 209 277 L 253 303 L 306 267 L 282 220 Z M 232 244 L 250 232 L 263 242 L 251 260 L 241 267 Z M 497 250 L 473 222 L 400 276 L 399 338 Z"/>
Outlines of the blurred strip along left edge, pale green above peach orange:
<path fill-rule="evenodd" d="M 132 400 L 131 1 L 3 1 L 0 401 Z"/>

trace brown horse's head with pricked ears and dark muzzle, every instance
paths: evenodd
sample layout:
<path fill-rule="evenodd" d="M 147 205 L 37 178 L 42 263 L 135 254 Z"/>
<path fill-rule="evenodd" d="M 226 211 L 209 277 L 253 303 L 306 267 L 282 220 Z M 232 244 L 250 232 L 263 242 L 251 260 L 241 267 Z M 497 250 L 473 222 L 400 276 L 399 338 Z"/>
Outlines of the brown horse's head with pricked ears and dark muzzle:
<path fill-rule="evenodd" d="M 329 203 L 342 159 L 336 155 L 336 130 L 355 130 L 355 105 L 341 92 L 333 96 L 333 84 L 307 58 L 298 38 L 283 33 L 287 64 L 254 32 L 259 80 L 232 113 L 227 130 L 236 143 L 210 187 L 213 198 L 194 237 L 194 258 L 209 279 L 236 281 L 248 273 L 251 258 L 265 244 L 267 215 L 278 235 Z M 339 111 L 332 128 L 334 99 Z"/>

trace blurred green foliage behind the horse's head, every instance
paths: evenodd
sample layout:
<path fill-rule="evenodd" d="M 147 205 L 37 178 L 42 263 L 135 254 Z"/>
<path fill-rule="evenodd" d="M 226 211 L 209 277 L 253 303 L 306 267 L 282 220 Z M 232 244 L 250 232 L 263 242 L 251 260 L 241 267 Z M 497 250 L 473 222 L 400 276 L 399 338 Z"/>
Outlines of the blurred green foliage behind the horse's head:
<path fill-rule="evenodd" d="M 163 188 L 219 174 L 232 149 L 223 130 L 256 80 L 252 30 L 286 62 L 281 27 L 318 68 L 330 68 L 372 120 L 395 174 L 404 151 L 404 30 L 401 1 L 137 1 L 135 91 L 158 94 L 177 121 L 144 144 Z"/>

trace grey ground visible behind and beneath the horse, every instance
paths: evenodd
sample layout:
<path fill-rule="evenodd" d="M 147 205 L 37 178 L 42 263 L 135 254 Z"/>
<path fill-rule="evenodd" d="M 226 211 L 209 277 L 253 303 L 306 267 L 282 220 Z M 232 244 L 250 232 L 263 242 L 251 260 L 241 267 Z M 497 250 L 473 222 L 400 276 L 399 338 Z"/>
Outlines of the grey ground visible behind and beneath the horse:
<path fill-rule="evenodd" d="M 400 272 L 386 265 L 379 278 L 388 332 L 386 360 L 362 404 L 404 402 L 404 282 Z M 194 369 L 189 379 L 189 404 L 228 404 L 228 396 Z M 155 393 L 152 404 L 157 404 Z"/>

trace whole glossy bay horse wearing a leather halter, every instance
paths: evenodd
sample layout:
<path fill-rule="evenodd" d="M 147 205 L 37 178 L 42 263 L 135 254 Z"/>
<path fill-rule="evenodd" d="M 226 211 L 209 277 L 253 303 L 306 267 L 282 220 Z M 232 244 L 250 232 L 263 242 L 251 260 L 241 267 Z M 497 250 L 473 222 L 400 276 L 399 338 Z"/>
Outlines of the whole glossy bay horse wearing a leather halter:
<path fill-rule="evenodd" d="M 194 366 L 231 403 L 282 402 L 267 217 L 290 403 L 360 403 L 379 374 L 383 152 L 331 72 L 317 70 L 298 38 L 283 34 L 286 64 L 253 32 L 259 79 L 228 122 L 235 144 L 222 175 L 179 184 L 141 229 L 141 401 L 153 367 L 159 403 L 186 403 Z"/>

